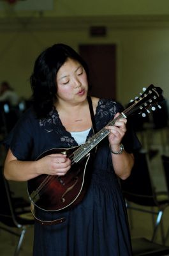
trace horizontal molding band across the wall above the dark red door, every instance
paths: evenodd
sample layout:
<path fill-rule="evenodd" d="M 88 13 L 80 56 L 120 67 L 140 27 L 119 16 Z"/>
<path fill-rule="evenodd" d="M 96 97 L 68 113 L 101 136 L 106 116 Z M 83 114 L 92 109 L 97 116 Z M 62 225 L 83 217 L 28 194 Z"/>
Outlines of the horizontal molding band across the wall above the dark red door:
<path fill-rule="evenodd" d="M 89 29 L 106 26 L 108 29 L 168 29 L 169 15 L 128 15 L 107 17 L 4 17 L 0 18 L 0 31 L 52 31 L 62 29 Z"/>

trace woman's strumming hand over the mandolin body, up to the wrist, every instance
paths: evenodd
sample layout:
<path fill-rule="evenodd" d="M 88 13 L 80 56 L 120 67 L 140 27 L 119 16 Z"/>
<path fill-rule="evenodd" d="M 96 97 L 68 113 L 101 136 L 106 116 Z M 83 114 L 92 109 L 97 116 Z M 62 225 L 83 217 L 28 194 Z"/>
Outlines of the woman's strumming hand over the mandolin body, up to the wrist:
<path fill-rule="evenodd" d="M 39 160 L 38 174 L 65 175 L 71 168 L 71 161 L 63 154 L 50 154 Z"/>

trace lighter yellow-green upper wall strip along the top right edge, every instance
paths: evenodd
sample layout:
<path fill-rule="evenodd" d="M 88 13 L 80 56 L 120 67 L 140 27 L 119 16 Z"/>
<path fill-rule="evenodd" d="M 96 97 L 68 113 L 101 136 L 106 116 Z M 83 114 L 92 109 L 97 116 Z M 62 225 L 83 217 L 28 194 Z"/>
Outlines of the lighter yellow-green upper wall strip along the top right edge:
<path fill-rule="evenodd" d="M 55 0 L 60 16 L 156 15 L 168 14 L 168 0 Z"/>

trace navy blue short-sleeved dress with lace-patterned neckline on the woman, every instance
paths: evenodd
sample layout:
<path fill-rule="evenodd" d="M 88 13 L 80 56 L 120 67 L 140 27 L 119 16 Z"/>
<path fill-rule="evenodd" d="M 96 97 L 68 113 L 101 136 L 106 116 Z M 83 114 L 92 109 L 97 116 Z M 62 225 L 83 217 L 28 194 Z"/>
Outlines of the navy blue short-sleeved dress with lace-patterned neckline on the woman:
<path fill-rule="evenodd" d="M 96 108 L 96 129 L 99 131 L 122 106 L 113 100 L 100 99 Z M 87 136 L 92 136 L 92 129 Z M 122 141 L 128 152 L 140 148 L 135 134 L 128 129 Z M 70 132 L 63 127 L 57 111 L 38 120 L 28 109 L 13 129 L 6 144 L 22 161 L 36 160 L 50 148 L 77 146 Z M 91 165 L 91 181 L 87 193 L 77 206 L 62 212 L 37 209 L 42 220 L 65 217 L 59 225 L 42 226 L 35 223 L 34 256 L 129 256 L 131 241 L 128 218 L 121 188 L 112 166 L 108 138 L 102 140 Z M 36 221 L 35 221 L 36 222 Z"/>

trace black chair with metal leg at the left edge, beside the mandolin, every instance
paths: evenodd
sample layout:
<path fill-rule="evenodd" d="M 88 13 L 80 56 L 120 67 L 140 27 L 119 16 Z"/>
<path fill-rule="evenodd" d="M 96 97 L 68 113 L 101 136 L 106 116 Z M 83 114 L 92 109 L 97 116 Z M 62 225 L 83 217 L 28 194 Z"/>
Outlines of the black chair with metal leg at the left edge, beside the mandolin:
<path fill-rule="evenodd" d="M 30 204 L 22 197 L 13 198 L 10 185 L 3 177 L 2 167 L 0 171 L 0 193 L 0 229 L 18 237 L 18 243 L 14 253 L 14 255 L 17 256 L 27 228 L 34 224 L 30 207 L 29 210 L 27 209 Z M 18 228 L 18 231 L 16 231 L 16 228 Z"/>

